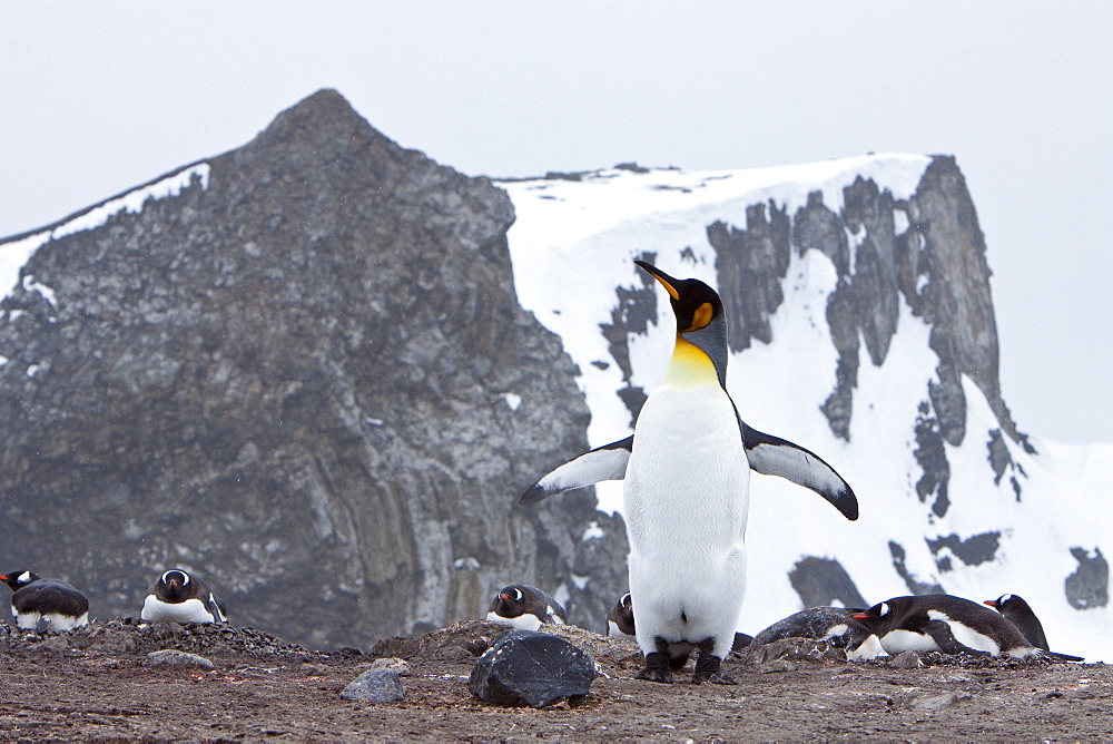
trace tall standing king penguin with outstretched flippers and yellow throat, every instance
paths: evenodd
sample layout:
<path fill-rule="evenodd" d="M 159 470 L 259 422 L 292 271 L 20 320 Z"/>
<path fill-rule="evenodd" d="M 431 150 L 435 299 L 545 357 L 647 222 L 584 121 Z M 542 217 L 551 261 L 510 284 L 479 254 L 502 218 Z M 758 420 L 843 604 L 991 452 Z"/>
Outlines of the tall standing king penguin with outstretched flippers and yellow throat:
<path fill-rule="evenodd" d="M 749 471 L 817 491 L 848 519 L 854 491 L 812 452 L 750 429 L 727 394 L 727 322 L 719 295 L 634 262 L 668 292 L 677 319 L 664 382 L 642 407 L 632 437 L 544 476 L 525 503 L 600 480 L 624 479 L 630 594 L 646 666 L 638 677 L 672 682 L 671 646 L 699 649 L 693 683 L 731 684 L 720 670 L 746 589 Z"/>

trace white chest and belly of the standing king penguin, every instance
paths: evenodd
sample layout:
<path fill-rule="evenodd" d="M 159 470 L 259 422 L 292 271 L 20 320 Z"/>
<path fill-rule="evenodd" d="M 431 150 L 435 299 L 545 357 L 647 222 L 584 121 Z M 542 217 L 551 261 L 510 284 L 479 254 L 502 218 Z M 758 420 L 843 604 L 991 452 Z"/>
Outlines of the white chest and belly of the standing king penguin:
<path fill-rule="evenodd" d="M 623 486 L 638 643 L 730 650 L 746 590 L 749 464 L 718 386 L 659 388 L 642 408 Z"/>

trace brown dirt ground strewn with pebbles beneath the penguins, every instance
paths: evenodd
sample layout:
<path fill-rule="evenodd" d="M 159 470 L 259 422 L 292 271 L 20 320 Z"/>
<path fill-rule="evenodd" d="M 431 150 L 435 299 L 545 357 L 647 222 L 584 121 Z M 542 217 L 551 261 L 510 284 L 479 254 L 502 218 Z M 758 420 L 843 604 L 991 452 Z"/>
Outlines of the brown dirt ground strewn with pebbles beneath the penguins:
<path fill-rule="evenodd" d="M 848 664 L 810 643 L 771 660 L 732 657 L 737 686 L 633 679 L 628 640 L 567 628 L 602 675 L 572 705 L 503 708 L 467 689 L 476 642 L 505 626 L 459 623 L 375 650 L 309 652 L 250 628 L 96 623 L 39 638 L 0 627 L 0 738 L 257 741 L 1113 740 L 1113 667 L 922 657 Z M 216 668 L 144 666 L 176 648 Z M 769 647 L 766 647 L 769 648 Z M 405 657 L 405 698 L 339 696 L 377 655 Z M 779 656 L 779 657 L 778 657 Z M 680 675 L 686 679 L 691 667 Z"/>

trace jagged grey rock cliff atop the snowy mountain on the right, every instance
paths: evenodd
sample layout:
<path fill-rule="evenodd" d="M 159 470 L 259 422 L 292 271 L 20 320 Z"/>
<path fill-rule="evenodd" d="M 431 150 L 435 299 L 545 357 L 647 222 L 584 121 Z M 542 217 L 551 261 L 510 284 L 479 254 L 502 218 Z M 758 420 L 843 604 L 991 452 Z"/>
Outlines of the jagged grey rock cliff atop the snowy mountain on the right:
<path fill-rule="evenodd" d="M 898 232 L 899 213 L 907 227 Z M 945 516 L 951 505 L 943 443 L 957 447 L 966 435 L 962 375 L 985 393 L 1001 431 L 1030 448 L 1001 397 L 985 238 L 953 157 L 935 157 L 907 200 L 858 177 L 843 189 L 838 213 L 824 204 L 821 192 L 814 192 L 791 216 L 774 203 L 751 205 L 745 229 L 716 222 L 708 227 L 708 239 L 718 255 L 719 286 L 735 298 L 727 303 L 735 351 L 747 349 L 752 339 L 776 341 L 768 319 L 784 298 L 780 283 L 791 248 L 801 255 L 815 248 L 831 260 L 838 280 L 827 300 L 827 321 L 838 365 L 821 410 L 831 431 L 848 441 L 861 346 L 870 363 L 884 363 L 902 297 L 930 325 L 929 344 L 939 363 L 918 412 L 916 458 L 923 477 L 916 490 L 935 516 Z M 1001 449 L 995 469 L 1003 467 Z M 1012 483 L 1020 496 L 1020 481 Z"/>

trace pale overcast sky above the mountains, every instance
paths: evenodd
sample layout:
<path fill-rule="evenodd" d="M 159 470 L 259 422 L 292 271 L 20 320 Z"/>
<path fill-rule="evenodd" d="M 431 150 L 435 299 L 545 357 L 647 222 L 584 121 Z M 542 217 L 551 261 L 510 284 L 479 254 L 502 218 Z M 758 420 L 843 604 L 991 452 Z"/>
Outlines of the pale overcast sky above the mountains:
<path fill-rule="evenodd" d="M 0 0 L 0 236 L 324 87 L 471 175 L 953 154 L 1020 428 L 1113 442 L 1113 2 Z"/>

